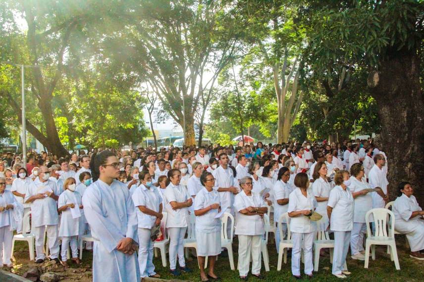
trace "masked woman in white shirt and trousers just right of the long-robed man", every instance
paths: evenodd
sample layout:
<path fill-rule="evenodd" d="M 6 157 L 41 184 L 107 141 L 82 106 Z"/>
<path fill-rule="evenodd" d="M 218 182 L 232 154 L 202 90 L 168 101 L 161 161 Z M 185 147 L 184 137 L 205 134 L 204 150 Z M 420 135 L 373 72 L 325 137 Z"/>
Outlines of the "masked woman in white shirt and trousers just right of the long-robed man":
<path fill-rule="evenodd" d="M 134 206 L 137 208 L 138 219 L 138 264 L 141 278 L 160 278 L 153 264 L 152 228 L 160 225 L 162 215 L 162 197 L 153 186 L 152 176 L 147 171 L 140 173 L 140 186 L 132 194 Z"/>

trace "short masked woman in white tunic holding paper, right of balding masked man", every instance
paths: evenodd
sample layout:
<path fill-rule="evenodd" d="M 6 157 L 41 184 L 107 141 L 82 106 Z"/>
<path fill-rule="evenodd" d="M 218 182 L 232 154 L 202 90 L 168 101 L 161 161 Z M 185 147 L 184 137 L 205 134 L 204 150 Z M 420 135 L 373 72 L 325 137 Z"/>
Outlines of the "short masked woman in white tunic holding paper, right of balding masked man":
<path fill-rule="evenodd" d="M 78 234 L 79 229 L 84 228 L 84 222 L 81 218 L 80 209 L 83 208 L 81 203 L 81 195 L 76 189 L 76 181 L 70 177 L 63 184 L 63 193 L 60 194 L 57 206 L 58 212 L 62 213 L 60 217 L 59 237 L 62 238 L 62 265 L 69 267 L 67 263 L 67 252 L 69 244 L 71 246 L 72 261 L 80 264 L 78 258 Z"/>

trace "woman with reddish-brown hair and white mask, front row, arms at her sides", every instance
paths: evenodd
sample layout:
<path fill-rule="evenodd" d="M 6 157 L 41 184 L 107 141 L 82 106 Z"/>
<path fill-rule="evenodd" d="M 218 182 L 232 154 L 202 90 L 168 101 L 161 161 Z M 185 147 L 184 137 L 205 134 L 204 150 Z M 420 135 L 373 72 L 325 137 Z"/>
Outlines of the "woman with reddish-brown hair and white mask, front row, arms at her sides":
<path fill-rule="evenodd" d="M 354 200 L 347 185 L 349 172 L 340 170 L 334 176 L 336 185 L 330 192 L 327 203 L 327 216 L 330 230 L 334 233 L 333 267 L 331 273 L 337 278 L 346 278 L 351 273 L 347 270 L 346 256 L 349 250 L 353 228 Z"/>

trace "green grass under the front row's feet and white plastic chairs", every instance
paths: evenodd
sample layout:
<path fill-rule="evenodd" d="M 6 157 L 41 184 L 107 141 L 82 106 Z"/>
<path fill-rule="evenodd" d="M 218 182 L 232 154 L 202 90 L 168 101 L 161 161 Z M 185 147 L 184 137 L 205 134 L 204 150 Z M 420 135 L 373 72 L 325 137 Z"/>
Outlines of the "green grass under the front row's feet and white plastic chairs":
<path fill-rule="evenodd" d="M 343 281 L 367 281 L 367 282 L 392 282 L 392 281 L 424 281 L 424 261 L 417 261 L 409 257 L 408 251 L 405 248 L 405 236 L 397 236 L 397 249 L 401 270 L 395 269 L 394 263 L 390 261 L 390 257 L 385 253 L 385 247 L 377 247 L 376 260 L 372 261 L 370 258 L 370 264 L 368 269 L 364 269 L 364 262 L 352 260 L 350 253 L 348 253 L 347 266 L 352 275 Z M 237 268 L 237 249 L 238 242 L 235 239 L 233 244 L 234 252 L 234 264 Z M 282 264 L 281 271 L 277 271 L 277 253 L 275 250 L 275 244 L 272 238 L 269 239 L 268 243 L 269 253 L 269 267 L 270 271 L 265 272 L 264 266 L 262 267 L 261 273 L 265 276 L 265 281 L 297 281 L 292 277 L 291 274 L 291 261 L 288 258 L 287 264 Z M 29 263 L 28 249 L 25 242 L 17 242 L 15 246 L 15 258 L 16 267 L 15 273 L 22 274 L 25 269 L 28 268 Z M 90 266 L 92 260 L 92 253 L 85 251 L 83 253 L 83 265 Z M 169 273 L 169 258 L 166 257 L 167 267 L 162 267 L 160 252 L 159 257 L 154 258 L 154 264 L 156 266 L 156 272 L 161 275 L 163 279 L 178 279 L 186 281 L 200 281 L 199 268 L 197 260 L 193 257 L 192 261 L 187 262 L 187 266 L 192 269 L 192 273 L 183 273 L 181 276 L 175 278 Z M 71 265 L 71 270 L 75 266 Z M 301 264 L 301 271 L 303 271 L 303 264 Z M 215 274 L 220 276 L 224 282 L 239 281 L 238 271 L 230 270 L 228 258 L 220 257 L 215 265 Z M 314 281 L 340 281 L 333 275 L 331 275 L 331 264 L 329 263 L 329 257 L 320 257 L 319 259 L 319 271 L 314 273 Z M 305 278 L 305 277 L 304 277 Z M 79 280 L 84 281 L 84 280 Z M 249 281 L 260 281 L 252 276 L 249 276 Z M 304 279 L 303 281 L 309 281 Z"/>

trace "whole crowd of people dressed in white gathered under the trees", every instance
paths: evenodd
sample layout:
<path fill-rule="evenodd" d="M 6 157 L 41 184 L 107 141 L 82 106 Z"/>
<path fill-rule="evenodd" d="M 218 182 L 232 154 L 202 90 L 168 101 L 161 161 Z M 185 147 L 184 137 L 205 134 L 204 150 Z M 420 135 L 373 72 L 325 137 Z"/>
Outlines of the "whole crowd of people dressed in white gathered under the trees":
<path fill-rule="evenodd" d="M 191 272 L 183 244 L 191 224 L 200 279 L 221 280 L 214 270 L 216 257 L 226 255 L 221 236 L 233 234 L 231 224 L 221 230 L 224 214 L 234 220 L 241 280 L 248 280 L 251 260 L 251 275 L 264 279 L 265 217 L 281 222 L 275 225 L 277 252 L 280 240 L 291 235 L 295 278 L 301 279 L 301 252 L 304 273 L 313 277 L 313 242 L 321 230 L 333 233 L 332 274 L 346 278 L 349 246 L 352 259 L 365 260 L 367 212 L 389 201 L 387 157 L 372 140 L 95 149 L 65 158 L 30 152 L 27 159 L 23 166 L 21 155 L 7 153 L 0 161 L 0 265 L 12 266 L 14 231 L 35 235 L 36 263 L 46 259 L 47 233 L 50 259 L 65 267 L 69 247 L 72 262 L 81 263 L 79 240 L 91 235 L 94 244 L 83 248 L 93 251 L 93 281 L 159 278 L 153 250 L 164 237 L 172 275 Z M 393 220 L 396 231 L 407 236 L 410 256 L 424 260 L 424 211 L 413 194 L 409 182 L 399 184 Z M 29 212 L 31 223 L 25 223 Z M 318 224 L 314 213 L 322 216 Z"/>

